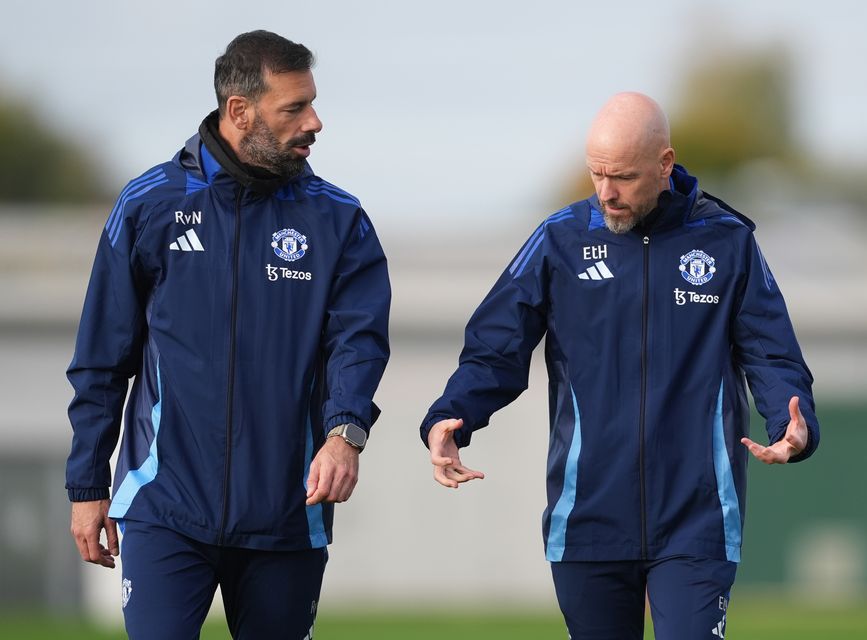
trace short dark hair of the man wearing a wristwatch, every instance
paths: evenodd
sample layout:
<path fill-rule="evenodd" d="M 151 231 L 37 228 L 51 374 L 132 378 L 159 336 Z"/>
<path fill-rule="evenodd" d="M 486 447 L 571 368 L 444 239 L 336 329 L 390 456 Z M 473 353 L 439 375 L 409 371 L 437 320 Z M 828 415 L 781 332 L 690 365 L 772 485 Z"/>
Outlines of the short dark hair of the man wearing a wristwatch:
<path fill-rule="evenodd" d="M 267 91 L 265 71 L 309 71 L 313 53 L 303 44 L 270 31 L 242 33 L 229 43 L 214 65 L 214 89 L 222 115 L 230 96 L 258 100 Z"/>

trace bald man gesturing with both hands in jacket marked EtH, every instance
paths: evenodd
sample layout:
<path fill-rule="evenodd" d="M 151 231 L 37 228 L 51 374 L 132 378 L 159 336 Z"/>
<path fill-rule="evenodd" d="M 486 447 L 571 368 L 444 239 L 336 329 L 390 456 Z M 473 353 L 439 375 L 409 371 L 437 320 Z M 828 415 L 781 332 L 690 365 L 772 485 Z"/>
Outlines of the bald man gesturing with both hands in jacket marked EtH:
<path fill-rule="evenodd" d="M 547 334 L 543 535 L 571 637 L 642 638 L 646 593 L 657 639 L 722 638 L 749 453 L 815 451 L 812 376 L 755 225 L 675 164 L 656 102 L 614 96 L 586 155 L 596 195 L 518 251 L 421 437 L 440 484 L 483 478 L 459 447 L 527 387 Z M 747 437 L 745 379 L 768 446 Z"/>

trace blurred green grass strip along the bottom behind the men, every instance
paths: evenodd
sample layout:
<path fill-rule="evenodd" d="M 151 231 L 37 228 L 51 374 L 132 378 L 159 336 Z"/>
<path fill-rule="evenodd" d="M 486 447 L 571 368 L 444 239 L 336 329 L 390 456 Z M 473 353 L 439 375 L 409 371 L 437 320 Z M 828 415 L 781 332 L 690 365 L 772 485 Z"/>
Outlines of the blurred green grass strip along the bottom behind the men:
<path fill-rule="evenodd" d="M 867 639 L 867 600 L 848 606 L 795 603 L 784 597 L 749 597 L 732 602 L 729 640 Z M 120 640 L 123 630 L 106 629 L 79 619 L 34 614 L 0 614 L 2 640 Z M 565 626 L 555 612 L 322 614 L 316 640 L 564 640 Z M 209 621 L 202 640 L 230 640 L 225 623 Z M 653 638 L 648 621 L 645 638 Z"/>

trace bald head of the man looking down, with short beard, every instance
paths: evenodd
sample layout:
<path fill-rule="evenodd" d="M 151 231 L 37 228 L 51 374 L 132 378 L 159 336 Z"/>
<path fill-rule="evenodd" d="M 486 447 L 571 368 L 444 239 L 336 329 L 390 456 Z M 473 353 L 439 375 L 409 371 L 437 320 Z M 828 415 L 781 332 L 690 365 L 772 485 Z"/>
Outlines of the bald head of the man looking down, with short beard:
<path fill-rule="evenodd" d="M 608 228 L 632 229 L 656 207 L 674 168 L 668 120 L 641 93 L 618 93 L 587 135 L 587 168 Z"/>

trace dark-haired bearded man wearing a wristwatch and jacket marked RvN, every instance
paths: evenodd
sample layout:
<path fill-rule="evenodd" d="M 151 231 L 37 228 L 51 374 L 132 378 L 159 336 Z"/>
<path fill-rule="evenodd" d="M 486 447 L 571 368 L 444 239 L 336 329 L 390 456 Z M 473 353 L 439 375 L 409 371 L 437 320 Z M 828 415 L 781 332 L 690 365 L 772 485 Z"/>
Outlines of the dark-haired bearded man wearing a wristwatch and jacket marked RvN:
<path fill-rule="evenodd" d="M 307 164 L 312 64 L 276 34 L 235 38 L 218 110 L 127 185 L 100 239 L 66 486 L 85 561 L 114 567 L 123 533 L 130 638 L 198 637 L 218 585 L 234 638 L 313 636 L 333 503 L 379 415 L 390 288 L 358 200 Z"/>

